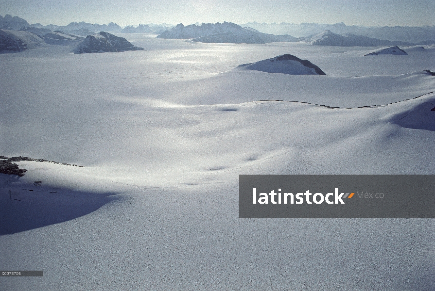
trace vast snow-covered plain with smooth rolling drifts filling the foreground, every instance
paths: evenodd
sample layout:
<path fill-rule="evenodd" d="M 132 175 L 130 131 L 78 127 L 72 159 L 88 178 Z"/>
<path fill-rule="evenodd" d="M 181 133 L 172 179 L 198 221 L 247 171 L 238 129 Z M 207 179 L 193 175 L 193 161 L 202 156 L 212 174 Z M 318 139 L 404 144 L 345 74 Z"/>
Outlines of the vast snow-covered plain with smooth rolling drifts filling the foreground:
<path fill-rule="evenodd" d="M 117 35 L 0 55 L 0 155 L 84 166 L 0 175 L 1 269 L 44 270 L 0 290 L 435 288 L 432 219 L 238 218 L 239 174 L 435 174 L 433 48 Z M 235 69 L 285 53 L 327 76 Z"/>

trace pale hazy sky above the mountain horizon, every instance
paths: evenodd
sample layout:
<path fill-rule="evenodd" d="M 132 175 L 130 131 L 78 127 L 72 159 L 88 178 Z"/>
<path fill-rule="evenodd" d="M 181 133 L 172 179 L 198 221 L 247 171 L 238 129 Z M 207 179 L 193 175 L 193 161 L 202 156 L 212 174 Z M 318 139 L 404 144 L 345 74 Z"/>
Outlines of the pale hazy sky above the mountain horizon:
<path fill-rule="evenodd" d="M 435 25 L 435 0 L 0 0 L 0 15 L 30 24 L 337 23 Z"/>

